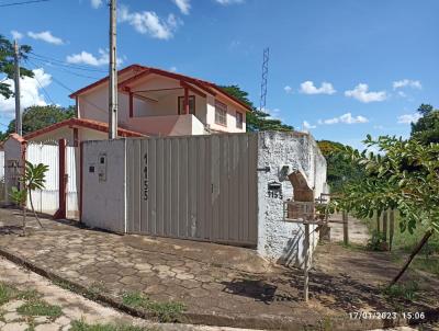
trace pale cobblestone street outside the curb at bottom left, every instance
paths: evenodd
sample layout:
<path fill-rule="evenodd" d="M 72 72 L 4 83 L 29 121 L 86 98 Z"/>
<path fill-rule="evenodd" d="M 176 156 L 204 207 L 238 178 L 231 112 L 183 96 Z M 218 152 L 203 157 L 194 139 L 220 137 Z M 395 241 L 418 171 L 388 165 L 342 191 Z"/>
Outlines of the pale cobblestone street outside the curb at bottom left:
<path fill-rule="evenodd" d="M 13 298 L 2 304 L 0 297 L 0 330 L 1 331 L 64 331 L 71 328 L 74 321 L 87 324 L 134 326 L 139 330 L 154 331 L 246 331 L 244 329 L 196 327 L 188 324 L 158 324 L 132 316 L 121 313 L 112 308 L 101 306 L 80 295 L 55 286 L 46 278 L 24 270 L 16 264 L 0 258 L 0 286 L 8 284 L 24 294 L 41 295 L 48 305 L 59 307 L 59 317 L 26 316 L 20 310 L 26 303 L 23 297 Z M 52 313 L 53 315 L 53 313 Z M 250 330 L 248 330 L 250 331 Z"/>

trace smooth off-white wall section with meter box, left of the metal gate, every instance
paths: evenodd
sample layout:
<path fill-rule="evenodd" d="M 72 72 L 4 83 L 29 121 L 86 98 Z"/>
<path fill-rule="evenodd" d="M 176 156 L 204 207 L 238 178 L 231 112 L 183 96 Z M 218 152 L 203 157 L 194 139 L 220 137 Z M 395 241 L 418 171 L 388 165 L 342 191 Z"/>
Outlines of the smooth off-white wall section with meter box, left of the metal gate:
<path fill-rule="evenodd" d="M 87 141 L 83 153 L 82 221 L 125 232 L 125 139 Z M 104 164 L 100 163 L 102 155 L 106 156 Z M 105 172 L 105 180 L 100 180 L 100 172 Z"/>

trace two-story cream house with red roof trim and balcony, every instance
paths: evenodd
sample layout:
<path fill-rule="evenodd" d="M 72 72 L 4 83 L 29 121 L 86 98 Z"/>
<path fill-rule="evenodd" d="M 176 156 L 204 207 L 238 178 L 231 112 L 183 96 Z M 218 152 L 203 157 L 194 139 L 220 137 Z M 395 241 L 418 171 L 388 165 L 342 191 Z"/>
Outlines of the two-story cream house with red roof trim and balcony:
<path fill-rule="evenodd" d="M 184 75 L 132 65 L 119 71 L 119 135 L 185 136 L 245 133 L 251 109 L 218 85 Z M 32 133 L 36 141 L 66 138 L 70 145 L 105 139 L 109 78 L 72 94 L 76 118 Z"/>

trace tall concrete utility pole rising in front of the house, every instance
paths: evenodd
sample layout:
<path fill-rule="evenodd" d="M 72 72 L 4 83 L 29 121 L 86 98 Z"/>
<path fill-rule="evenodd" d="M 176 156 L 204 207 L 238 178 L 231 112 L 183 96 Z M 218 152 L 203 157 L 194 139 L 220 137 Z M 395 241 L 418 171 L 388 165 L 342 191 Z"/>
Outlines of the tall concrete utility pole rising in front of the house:
<path fill-rule="evenodd" d="M 109 139 L 117 138 L 116 0 L 110 0 Z"/>

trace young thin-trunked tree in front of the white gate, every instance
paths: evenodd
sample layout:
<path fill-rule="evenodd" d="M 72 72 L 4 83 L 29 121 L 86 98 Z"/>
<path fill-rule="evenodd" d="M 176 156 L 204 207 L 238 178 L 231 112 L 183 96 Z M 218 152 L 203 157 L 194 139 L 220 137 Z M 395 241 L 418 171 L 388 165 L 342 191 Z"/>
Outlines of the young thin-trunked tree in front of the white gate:
<path fill-rule="evenodd" d="M 35 219 L 38 221 L 40 227 L 43 228 L 43 225 L 40 221 L 38 216 L 35 213 L 34 203 L 32 199 L 32 192 L 35 190 L 43 190 L 46 183 L 46 172 L 48 171 L 48 166 L 38 163 L 34 166 L 33 163 L 25 161 L 25 171 L 24 174 L 20 178 L 20 182 L 22 183 L 22 190 L 16 187 L 12 187 L 11 198 L 14 203 L 22 207 L 23 210 L 23 235 L 25 236 L 25 227 L 26 227 L 26 199 L 29 194 L 29 201 L 31 203 L 32 212 L 35 216 Z"/>

